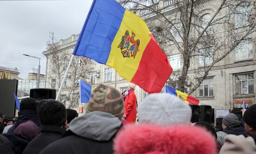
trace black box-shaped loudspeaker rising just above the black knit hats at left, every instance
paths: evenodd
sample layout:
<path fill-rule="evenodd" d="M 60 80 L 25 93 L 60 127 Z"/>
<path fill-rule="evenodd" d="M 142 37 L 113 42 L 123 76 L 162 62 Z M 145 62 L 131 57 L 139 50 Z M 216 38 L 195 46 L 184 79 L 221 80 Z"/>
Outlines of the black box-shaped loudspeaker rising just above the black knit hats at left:
<path fill-rule="evenodd" d="M 29 97 L 32 97 L 39 102 L 44 99 L 54 99 L 56 98 L 56 90 L 50 88 L 34 88 L 30 89 Z"/>

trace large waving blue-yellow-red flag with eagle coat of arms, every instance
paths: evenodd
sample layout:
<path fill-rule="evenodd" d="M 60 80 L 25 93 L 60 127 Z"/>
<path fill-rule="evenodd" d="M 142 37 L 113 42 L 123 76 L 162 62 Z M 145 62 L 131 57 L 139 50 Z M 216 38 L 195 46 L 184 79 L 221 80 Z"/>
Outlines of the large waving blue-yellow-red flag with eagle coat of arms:
<path fill-rule="evenodd" d="M 146 23 L 115 0 L 93 1 L 73 54 L 115 68 L 148 93 L 159 93 L 172 73 Z"/>

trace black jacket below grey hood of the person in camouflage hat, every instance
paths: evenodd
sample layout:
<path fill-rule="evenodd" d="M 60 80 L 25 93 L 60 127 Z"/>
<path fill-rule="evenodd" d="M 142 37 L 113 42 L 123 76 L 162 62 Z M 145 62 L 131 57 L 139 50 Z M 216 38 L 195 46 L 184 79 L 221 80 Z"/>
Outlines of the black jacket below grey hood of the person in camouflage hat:
<path fill-rule="evenodd" d="M 40 154 L 114 154 L 113 139 L 94 141 L 68 130 L 61 140 L 50 144 Z"/>

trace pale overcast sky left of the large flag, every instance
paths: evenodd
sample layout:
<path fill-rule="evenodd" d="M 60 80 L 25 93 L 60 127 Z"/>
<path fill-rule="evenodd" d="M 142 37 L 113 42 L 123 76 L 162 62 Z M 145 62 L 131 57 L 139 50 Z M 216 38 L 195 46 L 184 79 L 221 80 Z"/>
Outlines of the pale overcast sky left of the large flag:
<path fill-rule="evenodd" d="M 49 32 L 56 40 L 80 33 L 92 0 L 0 0 L 0 66 L 15 68 L 27 79 L 40 57 L 45 74 Z"/>

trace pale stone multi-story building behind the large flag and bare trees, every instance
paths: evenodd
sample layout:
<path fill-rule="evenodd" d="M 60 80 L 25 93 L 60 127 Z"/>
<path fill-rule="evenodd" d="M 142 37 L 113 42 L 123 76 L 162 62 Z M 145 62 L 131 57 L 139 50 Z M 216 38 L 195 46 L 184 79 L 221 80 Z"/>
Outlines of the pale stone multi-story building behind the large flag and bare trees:
<path fill-rule="evenodd" d="M 156 3 L 156 9 L 160 9 L 162 12 L 167 14 L 167 17 L 172 18 L 172 13 L 177 13 L 178 10 L 175 7 L 175 3 L 180 0 L 159 0 Z M 244 2 L 246 3 L 246 2 Z M 241 3 L 243 4 L 243 3 Z M 202 16 L 201 19 L 209 20 L 213 15 L 220 2 L 218 0 L 202 0 L 200 1 L 200 5 L 202 6 L 201 13 L 198 13 Z M 243 6 L 243 5 L 241 5 Z M 244 5 L 245 6 L 245 5 Z M 239 11 L 246 11 L 244 7 L 236 8 Z M 227 11 L 227 10 L 226 10 Z M 253 10 L 255 12 L 255 10 Z M 154 23 L 156 21 L 156 14 L 152 13 L 148 10 L 142 10 L 137 12 L 138 15 L 141 16 L 147 23 Z M 223 11 L 217 15 L 217 18 L 222 18 L 221 15 L 228 14 L 228 12 Z M 234 13 L 236 14 L 236 13 Z M 235 29 L 237 29 L 237 33 L 239 31 L 243 31 L 243 27 L 247 26 L 246 22 L 242 20 L 243 18 L 247 18 L 247 16 L 234 16 Z M 178 23 L 177 23 L 178 24 Z M 175 40 L 177 43 L 182 42 L 180 35 L 177 33 L 177 30 L 172 30 L 170 27 L 171 33 L 173 33 Z M 219 37 L 229 37 L 222 36 L 224 32 L 226 32 L 222 27 L 216 27 L 213 25 L 208 29 L 208 32 L 217 33 Z M 153 32 L 154 34 L 154 32 Z M 72 35 L 71 37 L 60 40 L 57 43 L 51 44 L 49 46 L 58 46 L 56 51 L 64 53 L 62 56 L 62 65 L 63 67 L 67 66 L 68 60 L 64 58 L 65 56 L 71 57 L 71 54 L 74 50 L 75 43 L 78 39 L 79 34 Z M 231 36 L 230 36 L 231 37 Z M 256 101 L 256 46 L 255 39 L 256 33 L 251 33 L 246 38 L 243 39 L 239 45 L 234 48 L 225 58 L 218 61 L 209 71 L 207 78 L 204 79 L 201 85 L 191 94 L 198 100 L 200 100 L 200 104 L 210 105 L 213 108 L 227 108 L 232 109 L 234 107 L 241 107 L 241 102 L 245 100 L 249 105 L 255 104 Z M 174 74 L 180 74 L 182 71 L 184 60 L 182 59 L 182 55 L 179 50 L 176 48 L 175 43 L 172 41 L 162 43 L 161 38 L 156 38 L 159 40 L 160 46 L 163 51 L 168 55 L 168 60 L 173 67 L 173 73 L 171 74 L 171 78 L 174 80 L 172 86 L 177 88 L 178 85 L 175 84 Z M 224 41 L 226 41 L 224 39 Z M 48 46 L 48 47 L 49 47 Z M 212 49 L 209 47 L 207 49 L 202 48 L 198 49 L 200 52 L 210 53 Z M 214 50 L 214 49 L 213 49 Z M 221 51 L 225 51 L 226 48 L 222 47 Z M 58 90 L 59 86 L 56 86 L 56 79 L 53 79 L 51 76 L 54 74 L 54 70 L 56 70 L 56 65 L 52 58 L 52 52 L 54 50 L 47 50 L 43 54 L 47 57 L 47 74 L 46 74 L 46 82 L 50 83 L 46 87 L 56 88 Z M 219 53 L 220 54 L 220 53 Z M 203 74 L 212 61 L 213 57 L 205 57 L 202 58 L 201 55 L 196 55 L 190 60 L 190 67 L 188 70 L 187 80 L 185 84 L 185 91 L 189 91 L 189 89 L 193 88 L 198 81 L 201 79 L 200 76 L 196 76 L 195 74 Z M 75 60 L 77 61 L 77 60 Z M 87 75 L 84 75 L 81 78 L 84 78 L 85 81 L 90 83 L 93 87 L 96 87 L 99 84 L 111 85 L 116 87 L 120 92 L 124 91 L 128 86 L 128 81 L 122 79 L 114 69 L 92 62 L 90 64 L 90 69 L 88 69 Z M 79 74 L 73 74 L 79 75 Z M 63 75 L 62 75 L 63 76 Z M 67 78 L 66 83 L 68 83 L 70 76 Z M 169 82 L 169 81 L 168 81 Z M 169 84 L 169 83 L 167 83 Z M 61 95 L 65 96 L 68 91 L 65 89 L 62 90 Z M 78 87 L 74 90 L 75 93 L 79 93 Z M 164 92 L 164 88 L 162 90 Z M 137 96 L 138 102 L 143 101 L 145 97 L 147 97 L 147 93 L 136 87 L 135 94 Z M 79 101 L 79 95 L 76 97 L 75 106 L 73 108 L 78 108 L 77 104 Z"/>

